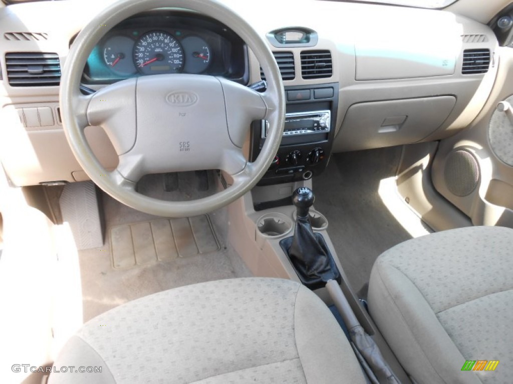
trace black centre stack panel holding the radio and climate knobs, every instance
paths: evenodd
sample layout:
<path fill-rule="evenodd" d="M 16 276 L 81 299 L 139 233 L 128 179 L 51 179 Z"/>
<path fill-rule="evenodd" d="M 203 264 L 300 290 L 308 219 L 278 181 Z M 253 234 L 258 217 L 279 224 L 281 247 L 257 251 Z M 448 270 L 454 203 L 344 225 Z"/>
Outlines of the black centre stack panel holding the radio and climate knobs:
<path fill-rule="evenodd" d="M 338 83 L 285 87 L 287 99 L 283 138 L 271 166 L 258 185 L 308 180 L 326 168 L 337 121 Z M 268 123 L 254 123 L 250 160 L 259 155 Z"/>

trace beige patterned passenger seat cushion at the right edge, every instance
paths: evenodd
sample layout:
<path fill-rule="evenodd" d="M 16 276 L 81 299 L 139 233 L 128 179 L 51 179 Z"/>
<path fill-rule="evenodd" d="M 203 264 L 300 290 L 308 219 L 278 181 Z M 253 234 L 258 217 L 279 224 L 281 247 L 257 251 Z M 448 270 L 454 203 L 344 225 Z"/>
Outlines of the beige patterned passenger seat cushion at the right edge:
<path fill-rule="evenodd" d="M 469 227 L 384 252 L 372 268 L 369 311 L 419 383 L 513 382 L 513 230 Z M 495 371 L 462 371 L 499 360 Z"/>

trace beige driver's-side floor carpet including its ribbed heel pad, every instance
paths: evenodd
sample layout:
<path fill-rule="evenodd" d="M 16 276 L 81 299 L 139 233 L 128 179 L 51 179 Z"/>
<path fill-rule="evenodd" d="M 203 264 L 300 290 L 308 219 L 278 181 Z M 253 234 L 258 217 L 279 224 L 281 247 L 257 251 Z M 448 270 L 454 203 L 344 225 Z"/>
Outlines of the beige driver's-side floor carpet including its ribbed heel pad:
<path fill-rule="evenodd" d="M 224 210 L 170 220 L 102 197 L 105 244 L 78 252 L 84 321 L 155 292 L 251 276 L 219 230 L 227 220 Z M 114 267 L 113 260 L 121 264 Z"/>

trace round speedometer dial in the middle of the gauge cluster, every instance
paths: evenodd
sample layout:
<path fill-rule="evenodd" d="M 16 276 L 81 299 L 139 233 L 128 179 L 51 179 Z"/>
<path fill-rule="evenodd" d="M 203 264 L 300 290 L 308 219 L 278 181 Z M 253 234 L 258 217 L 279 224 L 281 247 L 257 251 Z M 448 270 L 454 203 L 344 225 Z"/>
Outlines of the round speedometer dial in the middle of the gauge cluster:
<path fill-rule="evenodd" d="M 184 52 L 180 43 L 167 32 L 145 33 L 133 50 L 135 66 L 145 75 L 181 72 Z"/>

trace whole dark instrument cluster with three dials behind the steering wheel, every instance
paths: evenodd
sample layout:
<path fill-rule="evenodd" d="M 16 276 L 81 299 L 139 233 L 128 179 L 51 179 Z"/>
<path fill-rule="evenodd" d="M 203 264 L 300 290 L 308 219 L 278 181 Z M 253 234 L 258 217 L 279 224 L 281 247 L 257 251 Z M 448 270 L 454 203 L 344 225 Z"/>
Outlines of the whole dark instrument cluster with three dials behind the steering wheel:
<path fill-rule="evenodd" d="M 151 13 L 112 28 L 91 52 L 85 83 L 167 73 L 245 76 L 242 40 L 199 15 Z"/>

